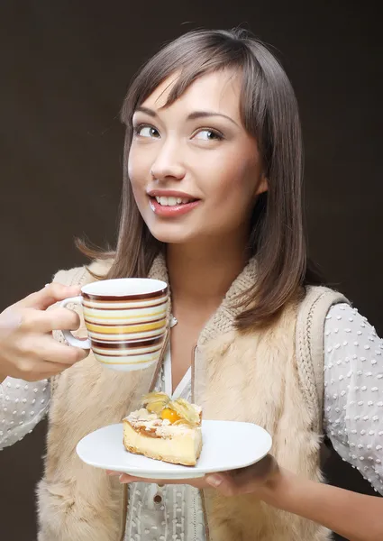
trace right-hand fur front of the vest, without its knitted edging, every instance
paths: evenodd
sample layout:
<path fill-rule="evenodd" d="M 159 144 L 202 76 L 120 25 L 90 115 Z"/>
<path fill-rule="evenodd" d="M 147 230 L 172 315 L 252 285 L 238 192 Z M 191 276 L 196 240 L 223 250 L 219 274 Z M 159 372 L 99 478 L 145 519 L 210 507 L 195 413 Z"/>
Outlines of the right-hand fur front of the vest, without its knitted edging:
<path fill-rule="evenodd" d="M 196 401 L 210 419 L 241 420 L 273 436 L 280 466 L 319 481 L 316 419 L 304 408 L 296 370 L 295 313 L 287 309 L 278 326 L 257 336 L 223 335 L 201 353 L 209 385 Z M 212 539 L 221 541 L 324 541 L 323 527 L 269 507 L 251 495 L 226 499 L 205 491 Z"/>

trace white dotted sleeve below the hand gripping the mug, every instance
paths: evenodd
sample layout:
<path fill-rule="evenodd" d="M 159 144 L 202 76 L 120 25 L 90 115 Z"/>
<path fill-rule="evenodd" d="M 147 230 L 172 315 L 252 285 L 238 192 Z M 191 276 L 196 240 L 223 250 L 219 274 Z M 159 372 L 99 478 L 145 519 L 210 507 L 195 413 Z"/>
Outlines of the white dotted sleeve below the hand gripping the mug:
<path fill-rule="evenodd" d="M 0 385 L 0 450 L 32 432 L 50 406 L 50 382 L 6 378 Z"/>

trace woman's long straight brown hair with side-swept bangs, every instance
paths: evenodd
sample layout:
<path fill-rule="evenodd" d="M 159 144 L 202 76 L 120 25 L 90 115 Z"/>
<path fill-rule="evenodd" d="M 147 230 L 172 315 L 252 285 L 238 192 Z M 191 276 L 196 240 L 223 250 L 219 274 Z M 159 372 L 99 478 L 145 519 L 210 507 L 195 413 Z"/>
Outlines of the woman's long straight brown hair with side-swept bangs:
<path fill-rule="evenodd" d="M 237 326 L 264 326 L 286 303 L 315 282 L 307 269 L 302 219 L 301 129 L 293 88 L 278 60 L 260 41 L 242 29 L 187 32 L 150 59 L 133 79 L 123 102 L 126 124 L 123 197 L 115 252 L 82 251 L 92 257 L 114 257 L 107 278 L 145 277 L 162 244 L 145 225 L 132 195 L 128 155 L 132 142 L 132 115 L 136 107 L 166 78 L 179 72 L 165 106 L 171 105 L 196 78 L 220 69 L 236 70 L 242 77 L 241 109 L 245 129 L 255 136 L 269 180 L 251 218 L 249 250 L 257 254 L 258 276 L 241 299 L 244 311 Z"/>

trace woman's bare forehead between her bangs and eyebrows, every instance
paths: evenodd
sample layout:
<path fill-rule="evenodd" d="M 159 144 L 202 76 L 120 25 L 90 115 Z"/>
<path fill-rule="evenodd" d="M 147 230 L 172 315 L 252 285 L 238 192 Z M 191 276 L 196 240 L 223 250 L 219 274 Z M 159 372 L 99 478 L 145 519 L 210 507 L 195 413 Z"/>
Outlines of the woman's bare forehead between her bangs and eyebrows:
<path fill-rule="evenodd" d="M 178 74 L 165 79 L 141 104 L 158 111 L 166 105 L 169 93 L 178 81 Z M 165 110 L 187 113 L 212 110 L 224 115 L 240 117 L 242 76 L 233 70 L 214 71 L 196 79 L 178 99 Z"/>

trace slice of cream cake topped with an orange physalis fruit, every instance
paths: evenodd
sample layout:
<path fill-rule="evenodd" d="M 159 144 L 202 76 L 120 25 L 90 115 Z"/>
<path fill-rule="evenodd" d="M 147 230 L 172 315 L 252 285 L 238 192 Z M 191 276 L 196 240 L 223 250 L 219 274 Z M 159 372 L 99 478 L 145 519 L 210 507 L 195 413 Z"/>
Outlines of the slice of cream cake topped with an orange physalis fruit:
<path fill-rule="evenodd" d="M 201 417 L 196 404 L 150 393 L 143 397 L 141 409 L 123 419 L 123 445 L 133 454 L 195 466 L 202 450 Z"/>

